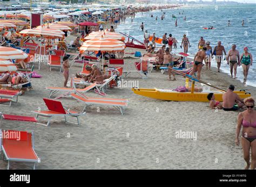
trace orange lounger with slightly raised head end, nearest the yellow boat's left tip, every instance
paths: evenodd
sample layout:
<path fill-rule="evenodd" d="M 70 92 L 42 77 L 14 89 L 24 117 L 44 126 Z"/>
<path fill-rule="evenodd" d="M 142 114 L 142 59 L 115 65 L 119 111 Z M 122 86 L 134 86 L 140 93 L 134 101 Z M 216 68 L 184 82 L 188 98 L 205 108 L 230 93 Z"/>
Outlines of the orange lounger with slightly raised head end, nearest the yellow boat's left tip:
<path fill-rule="evenodd" d="M 79 92 L 71 93 L 71 97 L 79 100 L 80 102 L 85 104 L 84 110 L 91 105 L 103 105 L 103 106 L 113 106 L 123 115 L 125 107 L 127 106 L 127 102 L 120 101 L 112 101 L 112 100 L 96 100 L 96 99 L 87 99 L 79 94 Z"/>

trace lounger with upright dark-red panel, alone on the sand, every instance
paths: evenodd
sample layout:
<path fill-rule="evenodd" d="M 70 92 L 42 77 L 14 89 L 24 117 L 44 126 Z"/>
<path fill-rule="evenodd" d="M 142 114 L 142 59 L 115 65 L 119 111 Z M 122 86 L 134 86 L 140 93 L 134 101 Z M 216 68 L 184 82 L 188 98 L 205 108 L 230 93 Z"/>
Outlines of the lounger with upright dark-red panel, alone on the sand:
<path fill-rule="evenodd" d="M 43 98 L 45 105 L 48 107 L 48 110 L 46 111 L 32 111 L 33 113 L 36 113 L 36 119 L 38 119 L 39 116 L 48 118 L 47 124 L 37 123 L 44 126 L 48 126 L 50 124 L 50 121 L 52 117 L 64 117 L 65 123 L 71 123 L 71 124 L 77 124 L 80 125 L 79 117 L 86 114 L 86 112 L 75 112 L 71 111 L 69 109 L 66 109 L 63 107 L 62 103 L 58 100 L 53 99 L 47 99 Z M 66 117 L 75 117 L 77 118 L 77 123 L 72 123 L 70 121 L 67 121 Z"/>

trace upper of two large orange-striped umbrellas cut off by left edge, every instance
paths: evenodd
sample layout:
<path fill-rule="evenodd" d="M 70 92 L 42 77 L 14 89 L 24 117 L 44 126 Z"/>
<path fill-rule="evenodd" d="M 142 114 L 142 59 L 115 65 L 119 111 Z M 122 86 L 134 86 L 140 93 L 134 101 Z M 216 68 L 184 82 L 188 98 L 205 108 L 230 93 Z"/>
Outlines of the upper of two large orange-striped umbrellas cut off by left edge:
<path fill-rule="evenodd" d="M 0 59 L 26 59 L 28 54 L 25 52 L 15 49 L 12 47 L 1 47 L 0 46 Z"/>

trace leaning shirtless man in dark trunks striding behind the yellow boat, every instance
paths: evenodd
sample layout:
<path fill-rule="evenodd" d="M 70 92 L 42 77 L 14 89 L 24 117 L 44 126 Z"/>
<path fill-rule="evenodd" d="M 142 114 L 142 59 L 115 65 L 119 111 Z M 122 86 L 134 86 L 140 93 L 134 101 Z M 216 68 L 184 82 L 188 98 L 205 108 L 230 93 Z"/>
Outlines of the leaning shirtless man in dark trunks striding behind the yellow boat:
<path fill-rule="evenodd" d="M 194 56 L 194 64 L 193 64 L 193 70 L 190 72 L 190 75 L 194 75 L 194 73 L 197 72 L 197 77 L 200 80 L 201 77 L 201 69 L 203 67 L 203 61 L 206 60 L 206 47 L 203 47 L 202 51 L 197 52 L 197 54 Z"/>

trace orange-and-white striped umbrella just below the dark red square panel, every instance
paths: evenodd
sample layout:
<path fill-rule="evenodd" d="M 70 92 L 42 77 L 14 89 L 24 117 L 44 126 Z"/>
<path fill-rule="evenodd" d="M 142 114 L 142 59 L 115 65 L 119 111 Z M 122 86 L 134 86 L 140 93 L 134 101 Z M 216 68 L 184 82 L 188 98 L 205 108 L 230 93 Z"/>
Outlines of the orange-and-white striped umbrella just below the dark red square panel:
<path fill-rule="evenodd" d="M 49 28 L 42 28 L 42 27 L 37 27 L 37 28 L 32 28 L 32 29 L 25 29 L 19 32 L 23 36 L 35 36 L 35 37 L 44 37 L 44 38 L 63 38 L 64 37 L 64 32 L 60 30 L 51 30 Z"/>

